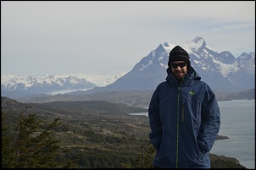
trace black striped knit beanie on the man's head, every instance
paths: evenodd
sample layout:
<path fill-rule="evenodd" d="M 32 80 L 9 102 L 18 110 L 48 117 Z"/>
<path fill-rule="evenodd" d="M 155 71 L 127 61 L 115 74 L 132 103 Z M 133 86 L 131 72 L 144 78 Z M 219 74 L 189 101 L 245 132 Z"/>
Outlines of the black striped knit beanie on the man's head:
<path fill-rule="evenodd" d="M 189 67 L 190 67 L 189 59 L 190 58 L 189 58 L 189 55 L 186 52 L 186 50 L 184 50 L 180 46 L 176 46 L 170 51 L 168 65 L 170 65 L 170 63 L 175 62 L 175 61 L 185 61 L 188 65 L 188 69 L 189 69 Z"/>

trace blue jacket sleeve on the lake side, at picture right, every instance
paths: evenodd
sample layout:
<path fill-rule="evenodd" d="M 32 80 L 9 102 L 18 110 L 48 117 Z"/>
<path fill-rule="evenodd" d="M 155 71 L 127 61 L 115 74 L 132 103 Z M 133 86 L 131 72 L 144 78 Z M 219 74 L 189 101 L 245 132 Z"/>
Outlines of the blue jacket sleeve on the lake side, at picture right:
<path fill-rule="evenodd" d="M 202 104 L 202 123 L 198 145 L 204 153 L 209 152 L 220 131 L 220 108 L 213 90 L 207 85 Z"/>

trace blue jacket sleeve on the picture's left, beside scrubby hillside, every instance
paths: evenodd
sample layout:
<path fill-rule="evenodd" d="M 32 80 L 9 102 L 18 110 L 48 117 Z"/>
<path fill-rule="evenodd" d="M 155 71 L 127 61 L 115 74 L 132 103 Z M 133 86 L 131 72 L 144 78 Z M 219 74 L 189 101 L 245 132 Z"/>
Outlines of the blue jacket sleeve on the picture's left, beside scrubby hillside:
<path fill-rule="evenodd" d="M 148 118 L 151 133 L 149 134 L 149 139 L 153 147 L 159 151 L 162 138 L 162 129 L 159 118 L 159 98 L 158 89 L 153 92 L 149 107 L 148 107 Z"/>

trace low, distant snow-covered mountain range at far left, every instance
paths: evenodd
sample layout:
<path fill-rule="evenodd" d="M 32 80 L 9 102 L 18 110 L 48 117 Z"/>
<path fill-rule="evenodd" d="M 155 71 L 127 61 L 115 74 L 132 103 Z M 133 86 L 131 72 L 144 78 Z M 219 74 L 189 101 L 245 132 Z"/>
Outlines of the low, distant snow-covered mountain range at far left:
<path fill-rule="evenodd" d="M 123 73 L 125 74 L 125 73 Z M 114 83 L 120 75 L 64 74 L 64 75 L 1 75 L 1 90 L 54 94 L 61 91 L 88 90 Z"/>

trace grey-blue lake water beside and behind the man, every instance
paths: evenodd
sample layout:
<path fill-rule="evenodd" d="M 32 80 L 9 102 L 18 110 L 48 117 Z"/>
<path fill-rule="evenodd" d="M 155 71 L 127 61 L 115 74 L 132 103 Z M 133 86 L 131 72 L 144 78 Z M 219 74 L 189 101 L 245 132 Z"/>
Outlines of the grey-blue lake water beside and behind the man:
<path fill-rule="evenodd" d="M 236 158 L 241 165 L 255 169 L 255 100 L 218 101 L 220 107 L 220 135 L 210 153 Z M 147 108 L 147 107 L 146 107 Z M 147 112 L 131 113 L 145 115 Z"/>

